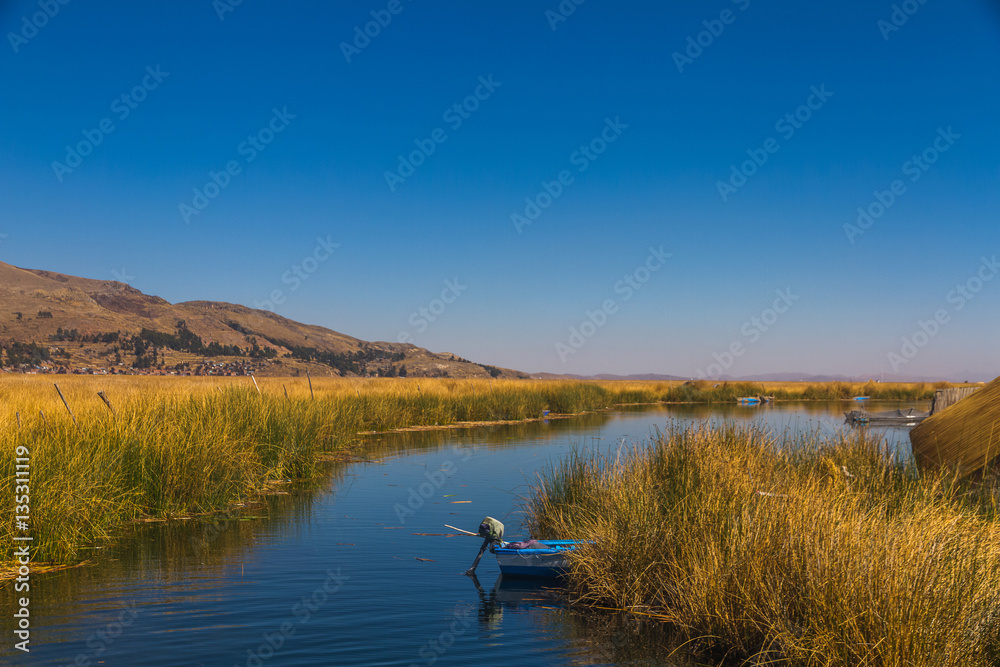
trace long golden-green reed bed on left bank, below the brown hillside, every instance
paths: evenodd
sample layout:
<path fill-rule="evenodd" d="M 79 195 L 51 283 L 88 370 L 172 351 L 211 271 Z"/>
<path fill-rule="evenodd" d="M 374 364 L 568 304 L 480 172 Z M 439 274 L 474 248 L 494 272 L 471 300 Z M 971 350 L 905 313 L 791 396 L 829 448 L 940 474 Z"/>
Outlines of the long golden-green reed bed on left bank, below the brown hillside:
<path fill-rule="evenodd" d="M 0 438 L 8 452 L 18 445 L 31 452 L 35 560 L 73 562 L 131 522 L 220 511 L 276 480 L 309 477 L 325 453 L 357 443 L 362 432 L 625 403 L 731 402 L 762 388 L 424 378 L 258 378 L 255 385 L 246 377 L 3 374 Z M 0 458 L 2 488 L 13 490 L 14 480 L 14 456 Z M 10 559 L 14 533 L 7 513 L 0 560 Z"/>

